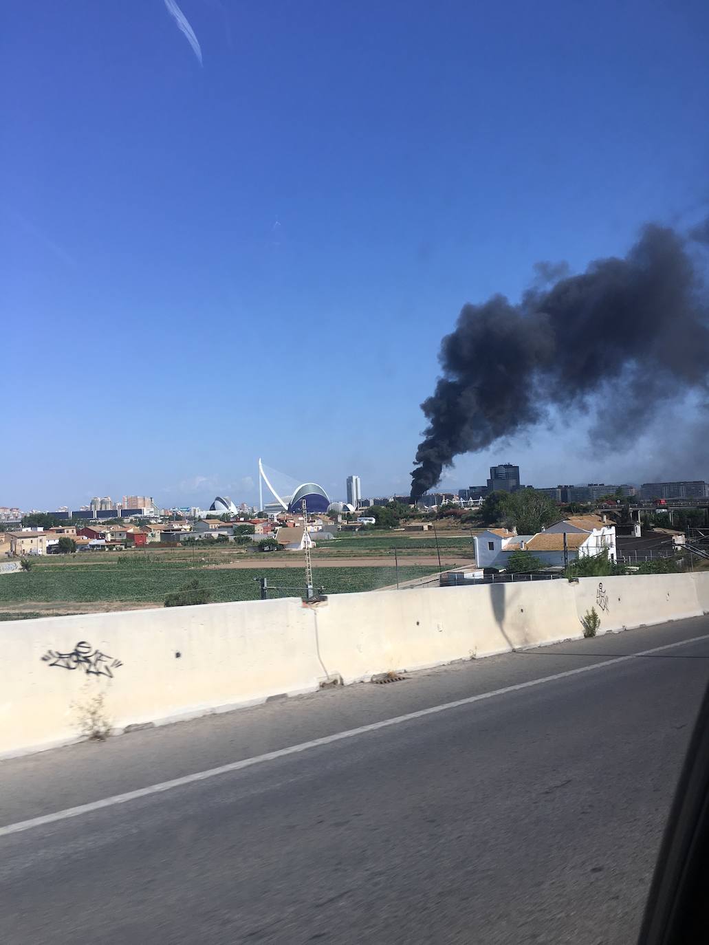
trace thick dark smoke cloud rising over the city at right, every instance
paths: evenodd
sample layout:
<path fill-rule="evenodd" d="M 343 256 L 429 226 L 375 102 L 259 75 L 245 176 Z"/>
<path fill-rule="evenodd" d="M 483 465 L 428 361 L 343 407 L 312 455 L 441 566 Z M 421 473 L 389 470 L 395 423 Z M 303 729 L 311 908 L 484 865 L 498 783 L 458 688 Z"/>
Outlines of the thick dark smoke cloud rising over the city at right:
<path fill-rule="evenodd" d="M 709 221 L 691 238 L 701 241 Z M 553 272 L 546 264 L 539 276 Z M 543 420 L 550 407 L 593 419 L 597 448 L 628 444 L 659 404 L 709 390 L 709 305 L 687 242 L 647 226 L 625 259 L 601 259 L 513 305 L 467 304 L 441 342 L 442 376 L 411 494 L 435 486 L 455 456 Z"/>

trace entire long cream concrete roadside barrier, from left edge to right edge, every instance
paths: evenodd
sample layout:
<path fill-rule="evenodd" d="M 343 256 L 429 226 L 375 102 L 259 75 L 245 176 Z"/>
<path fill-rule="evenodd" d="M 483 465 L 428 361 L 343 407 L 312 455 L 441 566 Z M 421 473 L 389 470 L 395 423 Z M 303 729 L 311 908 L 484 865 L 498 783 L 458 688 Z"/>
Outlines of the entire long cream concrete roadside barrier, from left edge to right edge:
<path fill-rule="evenodd" d="M 131 610 L 0 624 L 0 756 L 82 726 L 176 721 L 389 670 L 709 612 L 709 574 L 581 578 Z M 90 716 L 96 714 L 94 723 Z"/>

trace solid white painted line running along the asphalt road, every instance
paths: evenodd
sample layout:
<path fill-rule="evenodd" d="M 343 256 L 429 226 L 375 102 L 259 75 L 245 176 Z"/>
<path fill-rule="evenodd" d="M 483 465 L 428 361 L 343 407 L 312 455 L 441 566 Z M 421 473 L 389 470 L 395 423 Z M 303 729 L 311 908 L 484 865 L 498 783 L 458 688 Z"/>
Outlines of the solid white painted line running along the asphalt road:
<path fill-rule="evenodd" d="M 629 653 L 626 656 L 614 657 L 612 660 L 594 662 L 588 666 L 579 666 L 577 669 L 567 669 L 562 673 L 554 673 L 552 676 L 543 676 L 541 679 L 529 679 L 527 682 L 517 682 L 513 686 L 505 686 L 503 689 L 494 689 L 492 692 L 480 693 L 478 696 L 467 696 L 464 699 L 456 699 L 455 702 L 443 702 L 441 705 L 431 706 L 429 709 L 420 709 L 418 712 L 411 712 L 406 715 L 396 715 L 394 718 L 387 718 L 381 722 L 372 722 L 371 725 L 361 725 L 357 729 L 338 731 L 334 735 L 325 735 L 323 738 L 314 738 L 311 742 L 302 742 L 300 745 L 291 745 L 287 748 L 279 748 L 277 751 L 268 751 L 264 755 L 255 755 L 253 758 L 245 758 L 243 761 L 232 762 L 230 765 L 221 765 L 216 768 L 208 768 L 206 771 L 197 771 L 195 774 L 188 774 L 182 778 L 174 778 L 172 781 L 150 784 L 148 787 L 141 787 L 137 791 L 128 791 L 126 794 L 115 794 L 112 798 L 93 800 L 89 804 L 79 804 L 78 807 L 67 807 L 66 810 L 57 811 L 55 814 L 45 814 L 41 817 L 32 817 L 30 820 L 20 820 L 17 823 L 8 824 L 6 827 L 0 827 L 0 836 L 8 836 L 10 833 L 23 833 L 23 831 L 33 830 L 35 827 L 43 827 L 46 824 L 56 823 L 58 820 L 67 820 L 69 817 L 91 814 L 92 811 L 100 811 L 103 807 L 112 807 L 114 804 L 125 804 L 129 800 L 147 798 L 151 794 L 171 791 L 173 788 L 182 787 L 184 784 L 206 781 L 208 778 L 216 778 L 216 776 L 220 774 L 231 774 L 233 771 L 241 771 L 243 768 L 261 765 L 263 762 L 270 762 L 276 758 L 284 758 L 286 755 L 295 755 L 298 752 L 307 751 L 309 748 L 317 748 L 320 747 L 320 745 L 332 745 L 334 742 L 341 742 L 345 738 L 354 738 L 355 735 L 365 735 L 370 731 L 387 729 L 391 725 L 401 725 L 403 722 L 411 722 L 413 719 L 424 718 L 426 715 L 448 712 L 448 710 L 458 709 L 460 706 L 469 706 L 474 702 L 481 702 L 483 699 L 492 699 L 494 696 L 506 696 L 508 693 L 516 693 L 522 689 L 531 689 L 532 686 L 542 686 L 545 682 L 554 682 L 557 679 L 568 679 L 571 676 L 579 676 L 580 673 L 593 673 L 597 669 L 605 669 L 607 666 L 616 666 L 620 662 L 628 662 L 629 660 L 635 660 L 643 656 L 652 656 L 654 653 L 662 653 L 664 650 L 673 649 L 675 646 L 697 644 L 704 640 L 709 640 L 709 633 L 700 637 L 692 637 L 691 640 L 679 640 L 674 644 L 653 646 L 652 649 L 642 650 L 639 653 Z M 583 653 L 579 653 L 579 656 L 583 655 Z M 593 654 L 589 653 L 585 655 L 591 656 Z"/>

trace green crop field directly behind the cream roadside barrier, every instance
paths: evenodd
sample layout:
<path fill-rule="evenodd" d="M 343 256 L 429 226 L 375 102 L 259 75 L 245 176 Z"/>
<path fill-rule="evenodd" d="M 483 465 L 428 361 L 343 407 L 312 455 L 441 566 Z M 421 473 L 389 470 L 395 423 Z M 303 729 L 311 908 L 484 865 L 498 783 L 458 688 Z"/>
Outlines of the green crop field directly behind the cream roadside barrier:
<path fill-rule="evenodd" d="M 254 568 L 229 570 L 194 567 L 189 560 L 174 560 L 171 556 L 141 558 L 116 556 L 103 561 L 86 563 L 72 558 L 71 563 L 36 561 L 29 572 L 3 576 L 0 580 L 0 610 L 7 613 L 15 605 L 35 605 L 49 602 L 140 602 L 163 604 L 167 593 L 179 591 L 187 581 L 199 580 L 199 586 L 212 592 L 215 602 L 252 600 L 259 596 L 261 576 Z M 98 556 L 96 556 L 98 558 Z M 158 558 L 156 561 L 155 558 Z M 214 556 L 210 556 L 214 560 Z M 430 574 L 430 566 L 399 566 L 399 579 L 406 581 Z M 435 570 L 435 569 L 433 569 Z M 269 596 L 298 596 L 304 593 L 301 569 L 268 567 Z M 318 570 L 314 563 L 315 587 L 324 593 L 372 591 L 396 582 L 394 567 L 328 567 Z M 301 586 L 303 585 L 303 587 Z"/>

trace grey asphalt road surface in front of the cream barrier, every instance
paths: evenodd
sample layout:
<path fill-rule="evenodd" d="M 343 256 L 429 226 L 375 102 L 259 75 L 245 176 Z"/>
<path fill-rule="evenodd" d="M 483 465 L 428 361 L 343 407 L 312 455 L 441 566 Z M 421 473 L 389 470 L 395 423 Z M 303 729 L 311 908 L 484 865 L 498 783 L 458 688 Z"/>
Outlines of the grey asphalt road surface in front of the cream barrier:
<path fill-rule="evenodd" d="M 698 618 L 2 763 L 0 941 L 625 945 L 708 679 Z"/>

